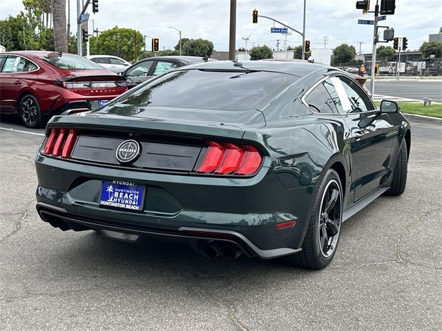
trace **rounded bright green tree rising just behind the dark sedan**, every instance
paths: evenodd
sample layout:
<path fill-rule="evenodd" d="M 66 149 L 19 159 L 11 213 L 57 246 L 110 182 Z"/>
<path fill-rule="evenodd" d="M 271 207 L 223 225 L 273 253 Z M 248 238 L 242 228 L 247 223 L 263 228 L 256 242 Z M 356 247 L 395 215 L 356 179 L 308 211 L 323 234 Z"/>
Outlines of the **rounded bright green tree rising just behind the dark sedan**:
<path fill-rule="evenodd" d="M 140 54 L 144 47 L 144 37 L 141 32 L 129 28 L 115 26 L 115 28 L 104 30 L 96 38 L 94 52 L 115 55 L 126 61 L 136 61 L 135 54 Z"/>

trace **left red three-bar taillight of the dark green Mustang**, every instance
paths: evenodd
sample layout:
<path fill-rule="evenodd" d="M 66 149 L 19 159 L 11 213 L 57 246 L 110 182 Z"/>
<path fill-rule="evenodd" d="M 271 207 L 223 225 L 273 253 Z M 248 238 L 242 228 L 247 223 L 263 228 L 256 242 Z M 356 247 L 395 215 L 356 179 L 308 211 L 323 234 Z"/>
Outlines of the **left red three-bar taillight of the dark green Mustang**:
<path fill-rule="evenodd" d="M 75 129 L 52 128 L 49 138 L 44 145 L 44 154 L 52 157 L 70 158 L 70 153 L 77 141 L 77 132 Z"/>

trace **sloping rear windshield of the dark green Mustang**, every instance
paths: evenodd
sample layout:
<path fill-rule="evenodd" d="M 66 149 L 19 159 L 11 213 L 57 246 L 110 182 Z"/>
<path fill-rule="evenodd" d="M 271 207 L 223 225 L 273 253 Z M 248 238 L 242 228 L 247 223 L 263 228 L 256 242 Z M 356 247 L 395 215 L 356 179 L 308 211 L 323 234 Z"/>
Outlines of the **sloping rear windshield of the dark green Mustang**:
<path fill-rule="evenodd" d="M 238 110 L 256 106 L 296 78 L 277 72 L 180 70 L 135 88 L 115 103 Z"/>

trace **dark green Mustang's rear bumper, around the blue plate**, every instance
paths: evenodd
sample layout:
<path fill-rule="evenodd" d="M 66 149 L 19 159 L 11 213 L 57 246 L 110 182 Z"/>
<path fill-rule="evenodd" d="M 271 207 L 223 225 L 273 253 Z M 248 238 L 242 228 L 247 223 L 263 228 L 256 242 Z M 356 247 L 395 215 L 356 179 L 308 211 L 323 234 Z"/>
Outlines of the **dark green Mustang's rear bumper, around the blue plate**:
<path fill-rule="evenodd" d="M 314 187 L 288 190 L 269 168 L 255 177 L 207 178 L 104 168 L 37 154 L 37 210 L 61 230 L 107 229 L 176 241 L 231 241 L 249 256 L 298 252 Z M 146 185 L 140 212 L 99 205 L 102 181 Z M 290 228 L 276 224 L 295 220 Z"/>

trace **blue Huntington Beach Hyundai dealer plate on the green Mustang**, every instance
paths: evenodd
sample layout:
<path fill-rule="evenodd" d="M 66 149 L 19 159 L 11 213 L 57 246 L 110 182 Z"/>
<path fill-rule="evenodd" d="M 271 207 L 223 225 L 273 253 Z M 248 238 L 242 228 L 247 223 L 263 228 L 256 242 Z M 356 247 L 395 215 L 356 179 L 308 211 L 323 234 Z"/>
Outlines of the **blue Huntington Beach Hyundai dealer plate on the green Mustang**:
<path fill-rule="evenodd" d="M 125 210 L 143 210 L 146 187 L 131 181 L 103 181 L 99 204 Z"/>

